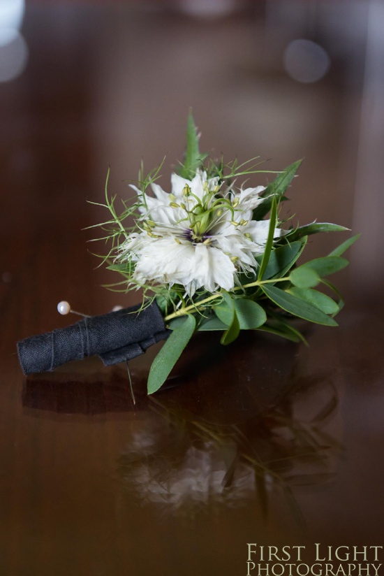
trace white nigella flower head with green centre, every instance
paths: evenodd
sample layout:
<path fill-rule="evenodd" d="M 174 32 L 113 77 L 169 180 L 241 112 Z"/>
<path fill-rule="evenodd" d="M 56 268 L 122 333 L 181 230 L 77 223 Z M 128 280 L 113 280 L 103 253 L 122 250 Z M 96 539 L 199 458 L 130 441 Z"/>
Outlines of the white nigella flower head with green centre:
<path fill-rule="evenodd" d="M 197 289 L 231 290 L 239 271 L 252 271 L 263 254 L 269 220 L 252 220 L 265 188 L 221 191 L 218 178 L 198 171 L 192 180 L 173 173 L 172 193 L 152 183 L 154 196 L 139 196 L 140 232 L 121 245 L 119 259 L 135 262 L 139 284 L 183 285 L 192 296 Z M 275 230 L 275 237 L 281 230 Z"/>

